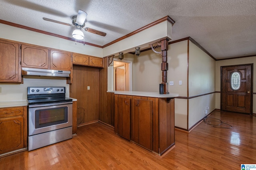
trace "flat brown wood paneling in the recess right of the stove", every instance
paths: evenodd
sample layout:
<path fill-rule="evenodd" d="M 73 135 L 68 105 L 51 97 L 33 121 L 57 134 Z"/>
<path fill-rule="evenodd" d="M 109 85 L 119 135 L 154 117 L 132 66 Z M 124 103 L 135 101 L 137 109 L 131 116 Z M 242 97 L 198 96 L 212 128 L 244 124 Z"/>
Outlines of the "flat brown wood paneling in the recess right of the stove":
<path fill-rule="evenodd" d="M 90 90 L 87 90 L 88 86 Z M 77 99 L 78 124 L 99 119 L 99 96 L 99 69 L 74 65 L 70 97 Z"/>

